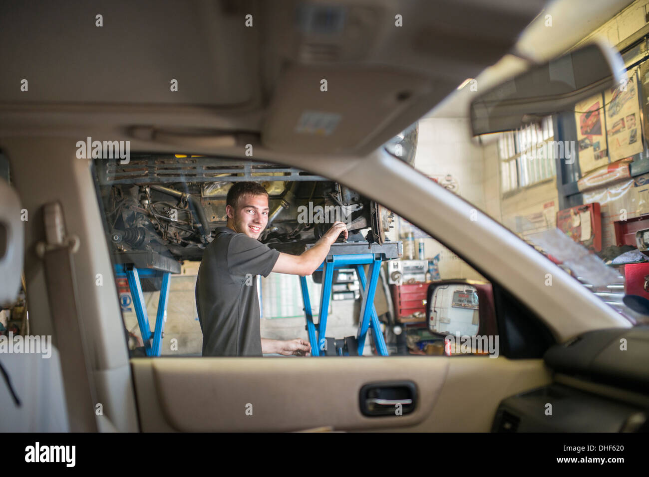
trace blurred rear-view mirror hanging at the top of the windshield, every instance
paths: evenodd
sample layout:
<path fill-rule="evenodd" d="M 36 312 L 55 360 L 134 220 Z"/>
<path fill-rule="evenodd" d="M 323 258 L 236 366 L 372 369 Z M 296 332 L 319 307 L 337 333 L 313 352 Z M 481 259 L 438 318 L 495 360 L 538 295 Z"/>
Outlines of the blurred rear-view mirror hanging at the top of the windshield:
<path fill-rule="evenodd" d="M 624 62 L 597 43 L 533 67 L 471 102 L 473 135 L 511 131 L 574 105 L 626 78 Z"/>

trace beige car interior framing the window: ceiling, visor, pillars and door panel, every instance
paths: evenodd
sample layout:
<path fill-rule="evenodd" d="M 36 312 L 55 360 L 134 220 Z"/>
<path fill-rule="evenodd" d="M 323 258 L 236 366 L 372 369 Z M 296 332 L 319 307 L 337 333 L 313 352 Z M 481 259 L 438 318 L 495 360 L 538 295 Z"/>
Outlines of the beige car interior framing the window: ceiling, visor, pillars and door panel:
<path fill-rule="evenodd" d="M 541 255 L 483 213 L 475 224 L 456 220 L 471 204 L 380 150 L 511 52 L 545 1 L 346 0 L 333 3 L 344 6 L 349 25 L 335 36 L 305 20 L 308 9 L 296 19 L 300 4 L 151 1 L 147 9 L 118 1 L 96 27 L 95 8 L 70 1 L 45 3 L 38 16 L 18 9 L 1 21 L 0 56 L 10 64 L 0 75 L 0 150 L 12 186 L 0 184 L 0 209 L 3 216 L 27 209 L 29 220 L 14 221 L 5 234 L 5 248 L 24 251 L 24 264 L 3 259 L 0 275 L 24 272 L 31 331 L 53 335 L 56 348 L 39 362 L 0 357 L 10 375 L 30 376 L 13 379 L 25 406 L 1 430 L 32 419 L 29 430 L 488 432 L 504 397 L 553 380 L 541 359 L 504 356 L 129 358 L 92 161 L 75 156 L 86 137 L 130 141 L 131 152 L 227 157 L 244 157 L 251 144 L 254 159 L 353 186 L 471 255 L 476 270 L 490 270 L 557 342 L 630 326 L 558 269 L 552 303 L 526 293 L 536 286 L 534 273 L 546 273 Z M 252 27 L 244 24 L 248 14 Z M 407 29 L 395 26 L 396 16 Z M 27 26 L 41 35 L 22 35 Z M 305 111 L 329 111 L 336 126 L 300 134 Z M 490 253 L 503 246 L 511 263 Z M 9 301 L 18 283 L 2 288 Z M 570 316 L 575 308 L 584 318 Z M 394 380 L 415 382 L 415 411 L 362 415 L 361 386 Z M 0 404 L 5 399 L 1 388 Z"/>

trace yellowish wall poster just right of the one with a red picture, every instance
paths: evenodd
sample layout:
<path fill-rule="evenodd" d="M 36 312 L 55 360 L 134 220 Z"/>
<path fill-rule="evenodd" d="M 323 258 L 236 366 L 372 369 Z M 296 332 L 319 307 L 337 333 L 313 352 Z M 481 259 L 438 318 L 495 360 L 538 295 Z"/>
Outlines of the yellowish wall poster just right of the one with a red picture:
<path fill-rule="evenodd" d="M 606 135 L 611 161 L 642 152 L 640 104 L 635 71 L 629 74 L 625 84 L 607 89 L 604 100 L 606 101 Z"/>

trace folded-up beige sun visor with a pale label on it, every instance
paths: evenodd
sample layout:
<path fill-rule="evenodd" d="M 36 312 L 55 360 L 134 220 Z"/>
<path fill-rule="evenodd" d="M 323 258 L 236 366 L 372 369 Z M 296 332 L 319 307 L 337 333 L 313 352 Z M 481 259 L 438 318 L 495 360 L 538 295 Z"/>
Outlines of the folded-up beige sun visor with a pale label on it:
<path fill-rule="evenodd" d="M 380 67 L 291 67 L 278 81 L 262 143 L 277 152 L 351 154 L 431 93 L 430 78 Z"/>

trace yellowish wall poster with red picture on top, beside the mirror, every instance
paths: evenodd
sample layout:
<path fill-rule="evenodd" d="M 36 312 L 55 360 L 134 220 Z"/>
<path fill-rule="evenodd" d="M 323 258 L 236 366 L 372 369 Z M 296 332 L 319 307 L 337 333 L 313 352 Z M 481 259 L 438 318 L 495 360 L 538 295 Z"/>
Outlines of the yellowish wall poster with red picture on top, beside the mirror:
<path fill-rule="evenodd" d="M 601 93 L 598 93 L 574 106 L 582 175 L 609 162 L 604 136 L 603 101 Z"/>

